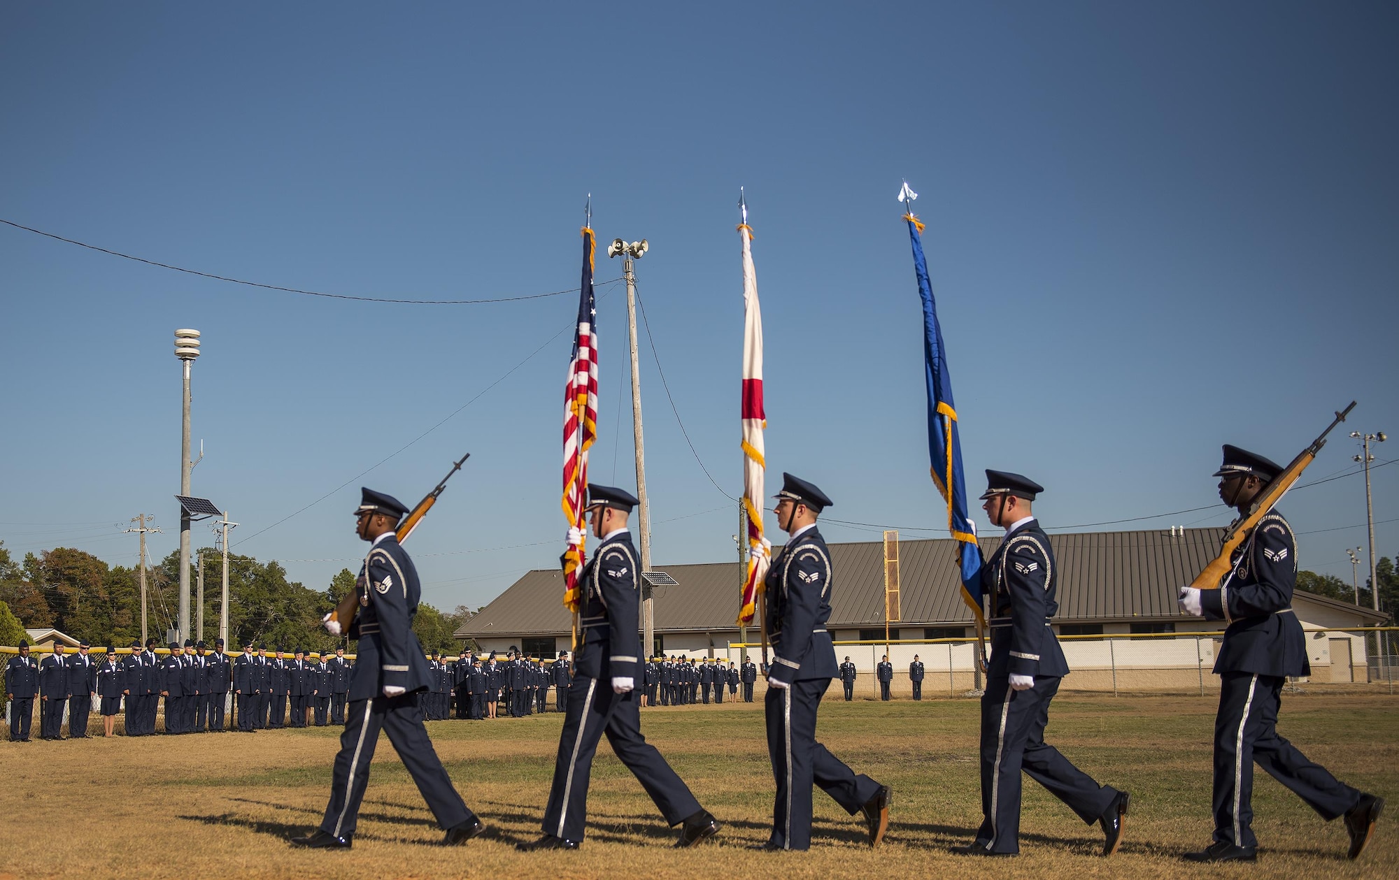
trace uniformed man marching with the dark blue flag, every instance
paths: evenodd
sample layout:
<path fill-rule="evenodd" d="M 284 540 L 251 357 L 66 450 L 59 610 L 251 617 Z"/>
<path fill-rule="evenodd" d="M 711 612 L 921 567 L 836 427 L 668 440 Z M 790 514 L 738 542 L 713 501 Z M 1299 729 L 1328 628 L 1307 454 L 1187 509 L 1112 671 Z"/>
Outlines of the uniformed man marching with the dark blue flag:
<path fill-rule="evenodd" d="M 1098 785 L 1044 740 L 1049 701 L 1069 675 L 1049 624 L 1059 610 L 1058 575 L 1049 536 L 1030 513 L 1044 486 L 1018 474 L 986 471 L 982 508 L 1006 529 L 981 567 L 982 595 L 990 598 L 990 665 L 981 698 L 981 803 L 977 839 L 956 852 L 1020 852 L 1020 771 L 1063 800 L 1079 819 L 1102 828 L 1102 855 L 1122 842 L 1128 792 Z"/>

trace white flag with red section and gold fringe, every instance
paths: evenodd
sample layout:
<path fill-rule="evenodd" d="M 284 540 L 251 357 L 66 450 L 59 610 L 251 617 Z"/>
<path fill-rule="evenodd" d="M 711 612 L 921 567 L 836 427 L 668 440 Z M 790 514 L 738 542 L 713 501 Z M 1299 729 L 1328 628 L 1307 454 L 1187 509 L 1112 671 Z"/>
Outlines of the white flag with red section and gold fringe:
<path fill-rule="evenodd" d="M 768 574 L 772 543 L 762 536 L 762 430 L 768 426 L 762 411 L 762 314 L 758 310 L 758 278 L 753 271 L 753 229 L 748 228 L 748 208 L 739 201 L 743 222 L 739 239 L 743 243 L 743 507 L 748 514 L 748 577 L 743 584 L 739 623 L 753 623 L 758 591 Z"/>

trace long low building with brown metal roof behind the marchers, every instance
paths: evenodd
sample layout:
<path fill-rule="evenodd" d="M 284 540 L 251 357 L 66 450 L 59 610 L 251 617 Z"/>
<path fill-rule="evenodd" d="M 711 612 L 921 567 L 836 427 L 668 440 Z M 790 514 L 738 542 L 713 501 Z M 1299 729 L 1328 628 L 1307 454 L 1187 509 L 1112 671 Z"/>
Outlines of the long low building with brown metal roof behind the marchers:
<path fill-rule="evenodd" d="M 1220 548 L 1221 528 L 1172 528 L 1167 531 L 1133 532 L 1077 532 L 1052 535 L 1055 562 L 1059 567 L 1059 613 L 1055 629 L 1060 636 L 1146 636 L 1177 633 L 1209 633 L 1219 622 L 1206 622 L 1184 615 L 1177 605 L 1179 587 L 1189 584 Z M 999 538 L 982 538 L 982 549 L 989 556 Z M 832 638 L 870 643 L 863 651 L 862 672 L 869 670 L 884 652 L 884 548 L 881 542 L 831 543 L 834 589 L 831 620 L 827 627 Z M 957 668 L 970 672 L 972 651 L 970 644 L 953 650 L 936 640 L 971 640 L 975 630 L 971 609 L 963 602 L 957 580 L 957 545 L 951 539 L 902 541 L 900 557 L 900 616 L 890 622 L 890 659 L 895 666 L 907 666 L 914 654 L 928 662 L 939 662 L 949 676 Z M 736 624 L 741 570 L 737 560 L 727 563 L 656 566 L 669 573 L 677 587 L 658 587 L 655 596 L 655 631 L 658 654 L 688 657 L 733 658 L 730 645 L 740 644 Z M 474 640 L 483 651 L 506 651 L 518 647 L 529 654 L 554 657 L 567 651 L 572 619 L 562 605 L 564 578 L 557 570 L 529 571 L 505 589 L 455 636 Z M 1337 602 L 1297 591 L 1294 609 L 1302 626 L 1368 627 L 1386 619 L 1385 615 L 1346 602 Z M 757 641 L 758 633 L 750 631 Z M 1318 633 L 1318 636 L 1322 636 Z M 1332 638 L 1315 638 L 1312 665 L 1330 666 L 1330 648 L 1344 650 L 1347 676 L 1365 680 L 1364 638 L 1346 633 L 1330 633 Z M 1346 645 L 1339 645 L 1344 640 Z M 1196 641 L 1192 638 L 1192 641 Z M 1198 665 L 1213 657 L 1213 644 L 1189 648 L 1182 659 L 1191 675 Z M 877 643 L 877 647 L 874 645 Z M 898 643 L 898 644 L 893 644 Z M 1126 643 L 1123 643 L 1126 644 Z M 937 645 L 936 648 L 933 645 Z M 1067 643 L 1070 665 L 1079 669 L 1093 651 L 1087 644 Z M 1185 651 L 1184 645 L 1172 645 Z M 1081 650 L 1076 650 L 1081 648 Z M 1093 647 L 1094 650 L 1101 645 Z M 1154 657 L 1165 657 L 1167 645 L 1143 645 Z M 1114 648 L 1115 654 L 1123 648 Z M 838 647 L 838 654 L 852 652 Z M 961 655 L 965 657 L 961 657 Z M 1074 663 L 1074 654 L 1084 657 Z M 1199 654 L 1199 657 L 1196 657 Z M 860 659 L 855 661 L 860 665 Z M 1114 661 L 1115 662 L 1115 661 Z M 1091 665 L 1091 662 L 1090 662 Z M 1114 668 L 1116 668 L 1114 665 Z M 932 675 L 932 668 L 929 669 Z M 1333 675 L 1336 680 L 1342 673 Z"/>

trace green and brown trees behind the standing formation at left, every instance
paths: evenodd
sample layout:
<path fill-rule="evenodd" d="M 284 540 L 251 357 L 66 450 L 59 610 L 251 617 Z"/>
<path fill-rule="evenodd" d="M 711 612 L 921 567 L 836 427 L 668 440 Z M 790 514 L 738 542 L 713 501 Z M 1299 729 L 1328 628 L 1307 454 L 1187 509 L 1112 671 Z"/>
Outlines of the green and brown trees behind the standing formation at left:
<path fill-rule="evenodd" d="M 204 563 L 204 638 L 213 645 L 218 637 L 218 603 L 222 581 L 222 556 L 208 555 Z M 194 601 L 196 566 L 190 566 L 190 599 Z M 228 556 L 228 633 L 229 650 L 243 640 L 267 643 L 288 651 L 334 650 L 343 640 L 326 633 L 320 619 L 336 602 L 354 589 L 354 574 L 341 569 L 325 589 L 311 589 L 287 578 L 276 560 L 259 562 L 252 556 Z M 165 631 L 179 616 L 179 552 L 172 552 L 145 571 L 147 633 L 164 641 Z M 141 636 L 141 589 L 136 569 L 108 566 L 84 550 L 55 548 L 27 553 L 22 562 L 11 559 L 0 542 L 0 603 L 22 622 L 25 629 L 53 627 L 94 647 L 123 647 Z M 192 610 L 192 616 L 194 612 Z M 453 652 L 460 643 L 452 633 L 466 623 L 471 612 L 457 606 L 443 612 L 427 602 L 418 605 L 413 630 L 425 650 Z M 192 620 L 193 624 L 193 620 Z M 22 636 L 22 633 L 21 633 Z M 15 644 L 0 640 L 0 644 Z"/>

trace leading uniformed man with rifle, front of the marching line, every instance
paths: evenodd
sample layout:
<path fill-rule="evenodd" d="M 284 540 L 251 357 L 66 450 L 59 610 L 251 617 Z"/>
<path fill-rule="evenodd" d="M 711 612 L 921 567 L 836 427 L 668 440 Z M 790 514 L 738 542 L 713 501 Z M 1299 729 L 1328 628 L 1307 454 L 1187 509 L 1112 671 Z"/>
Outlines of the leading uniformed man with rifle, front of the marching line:
<path fill-rule="evenodd" d="M 348 633 L 341 633 L 340 623 L 330 615 L 325 617 L 332 636 L 360 640 L 350 679 L 350 708 L 340 735 L 326 814 L 312 834 L 292 838 L 291 842 L 298 846 L 351 846 L 381 729 L 389 735 L 393 750 L 432 816 L 446 830 L 445 845 L 463 844 L 485 830 L 453 788 L 422 726 L 418 700 L 429 686 L 428 668 L 422 644 L 413 634 L 421 587 L 413 560 L 395 535 L 406 513 L 409 508 L 397 499 L 361 489 L 355 534 L 369 542 L 369 555 L 355 580 L 360 612 Z"/>

